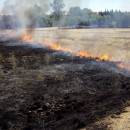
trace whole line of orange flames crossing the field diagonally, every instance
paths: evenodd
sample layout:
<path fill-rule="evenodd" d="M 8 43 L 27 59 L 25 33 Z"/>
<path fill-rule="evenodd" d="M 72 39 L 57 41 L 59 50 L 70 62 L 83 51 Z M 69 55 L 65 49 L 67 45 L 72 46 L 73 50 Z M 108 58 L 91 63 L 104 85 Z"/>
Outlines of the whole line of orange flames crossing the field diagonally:
<path fill-rule="evenodd" d="M 31 32 L 28 31 L 28 33 L 21 38 L 21 41 L 27 42 L 27 43 L 34 42 L 34 40 L 31 38 Z M 104 55 L 102 55 L 101 53 L 99 53 L 98 55 L 94 55 L 93 53 L 88 54 L 87 50 L 80 50 L 79 52 L 76 53 L 74 50 L 72 50 L 70 48 L 62 47 L 61 43 L 56 44 L 55 42 L 49 41 L 48 38 L 46 38 L 43 43 L 39 43 L 39 44 L 48 46 L 52 50 L 71 52 L 71 53 L 75 54 L 75 56 L 80 57 L 80 58 L 94 58 L 97 61 L 119 62 L 120 64 L 118 65 L 118 67 L 130 70 L 130 65 L 126 65 L 124 62 L 116 60 L 113 57 L 110 57 L 108 53 L 106 53 Z"/>

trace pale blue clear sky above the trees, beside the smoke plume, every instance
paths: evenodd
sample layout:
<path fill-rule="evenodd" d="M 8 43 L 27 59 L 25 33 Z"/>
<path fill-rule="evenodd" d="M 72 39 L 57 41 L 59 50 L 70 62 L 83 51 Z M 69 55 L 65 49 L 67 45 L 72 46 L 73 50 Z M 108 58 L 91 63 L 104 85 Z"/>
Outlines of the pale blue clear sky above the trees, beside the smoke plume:
<path fill-rule="evenodd" d="M 0 10 L 3 7 L 5 0 L 0 0 Z M 104 11 L 105 9 L 130 11 L 130 0 L 64 0 L 65 10 L 70 7 L 80 6 L 83 8 L 92 9 L 95 12 Z"/>

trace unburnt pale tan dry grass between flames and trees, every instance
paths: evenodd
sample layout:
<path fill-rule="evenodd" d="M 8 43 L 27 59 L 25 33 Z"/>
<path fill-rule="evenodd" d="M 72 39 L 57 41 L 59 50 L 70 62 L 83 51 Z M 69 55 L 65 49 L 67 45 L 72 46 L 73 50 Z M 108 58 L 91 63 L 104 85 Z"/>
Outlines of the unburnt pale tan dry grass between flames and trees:
<path fill-rule="evenodd" d="M 115 59 L 130 61 L 130 29 L 66 29 L 56 28 L 36 29 L 33 37 L 43 42 L 62 43 L 74 51 L 87 49 L 88 53 L 102 55 L 108 53 Z"/>

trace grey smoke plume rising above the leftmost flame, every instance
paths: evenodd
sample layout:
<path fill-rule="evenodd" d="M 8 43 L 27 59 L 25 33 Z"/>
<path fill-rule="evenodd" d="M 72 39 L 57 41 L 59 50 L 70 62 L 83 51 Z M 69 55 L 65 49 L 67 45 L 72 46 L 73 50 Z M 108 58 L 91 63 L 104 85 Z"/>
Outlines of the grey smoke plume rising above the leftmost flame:
<path fill-rule="evenodd" d="M 46 14 L 50 9 L 51 0 L 6 0 L 2 9 L 3 15 L 15 17 L 14 26 L 28 29 L 35 28 L 40 15 Z"/>

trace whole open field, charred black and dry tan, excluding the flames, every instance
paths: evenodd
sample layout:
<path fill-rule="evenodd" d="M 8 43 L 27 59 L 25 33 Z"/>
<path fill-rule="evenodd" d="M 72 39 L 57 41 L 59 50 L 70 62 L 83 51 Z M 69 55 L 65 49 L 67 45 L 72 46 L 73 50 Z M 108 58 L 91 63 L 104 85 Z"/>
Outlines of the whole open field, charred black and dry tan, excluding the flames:
<path fill-rule="evenodd" d="M 130 62 L 130 29 L 48 28 L 32 37 Z M 0 129 L 129 129 L 130 71 L 118 62 L 22 44 L 0 43 Z"/>

